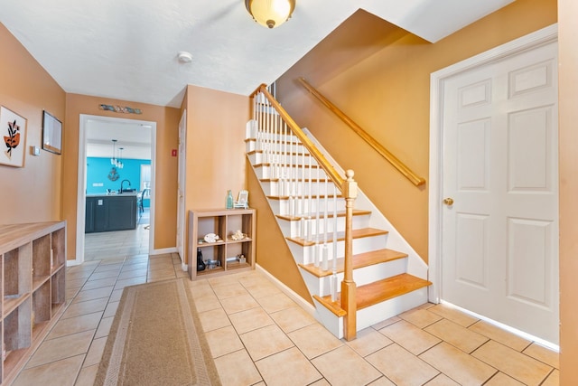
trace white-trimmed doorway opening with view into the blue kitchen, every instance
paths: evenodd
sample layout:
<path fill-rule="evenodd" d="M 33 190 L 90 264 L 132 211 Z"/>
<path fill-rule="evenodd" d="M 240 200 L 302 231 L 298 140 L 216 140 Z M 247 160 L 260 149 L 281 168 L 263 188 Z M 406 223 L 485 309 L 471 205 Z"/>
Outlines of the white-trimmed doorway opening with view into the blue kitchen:
<path fill-rule="evenodd" d="M 136 227 L 134 230 L 103 231 L 87 233 L 87 195 L 118 193 L 116 185 L 105 186 L 100 180 L 91 179 L 88 183 L 89 160 L 95 164 L 102 159 L 113 159 L 112 139 L 117 139 L 117 144 L 123 147 L 121 158 L 123 166 L 109 165 L 111 171 L 115 167 L 117 174 L 121 176 L 124 171 L 128 173 L 126 165 L 139 164 L 137 177 L 130 182 L 130 187 L 125 183 L 122 189 L 133 190 L 136 196 Z M 120 145 L 118 146 L 120 147 Z M 79 122 L 79 175 L 78 175 L 78 202 L 77 202 L 77 245 L 76 263 L 81 264 L 90 259 L 121 258 L 138 254 L 150 254 L 154 250 L 154 164 L 156 154 L 156 122 L 126 118 L 107 118 L 90 115 L 80 115 Z M 142 189 L 140 176 L 140 164 L 138 160 L 149 162 L 149 174 L 146 175 L 146 189 Z M 128 164 L 127 164 L 128 161 Z M 110 161 L 112 163 L 112 161 Z M 113 172 L 113 174 L 114 174 Z M 109 173 L 110 174 L 110 173 Z M 111 179 L 107 175 L 99 176 L 109 183 Z M 115 179 L 113 176 L 112 179 Z M 125 180 L 118 178 L 117 181 Z M 115 181 L 116 182 L 116 181 Z M 99 192 L 98 189 L 102 190 Z M 108 192 L 110 190 L 110 192 Z M 97 197 L 98 198 L 98 197 Z M 90 240 L 87 242 L 87 235 Z M 96 249 L 96 250 L 95 250 Z"/>

